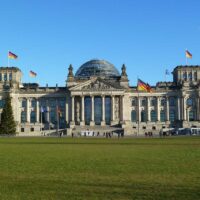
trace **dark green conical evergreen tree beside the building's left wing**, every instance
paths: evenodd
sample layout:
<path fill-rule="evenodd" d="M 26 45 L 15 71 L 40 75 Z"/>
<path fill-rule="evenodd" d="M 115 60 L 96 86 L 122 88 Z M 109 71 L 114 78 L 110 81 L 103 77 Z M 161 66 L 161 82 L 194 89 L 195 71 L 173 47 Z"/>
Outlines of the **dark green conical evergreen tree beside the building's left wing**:
<path fill-rule="evenodd" d="M 0 134 L 16 134 L 16 123 L 14 121 L 11 97 L 8 93 L 1 114 Z"/>

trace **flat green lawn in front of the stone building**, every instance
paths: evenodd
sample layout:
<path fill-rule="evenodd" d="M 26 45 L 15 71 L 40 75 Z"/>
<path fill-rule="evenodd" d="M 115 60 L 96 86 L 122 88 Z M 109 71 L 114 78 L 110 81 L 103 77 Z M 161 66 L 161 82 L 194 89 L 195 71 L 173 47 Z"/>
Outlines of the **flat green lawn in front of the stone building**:
<path fill-rule="evenodd" d="M 200 137 L 0 138 L 0 199 L 200 199 Z"/>

